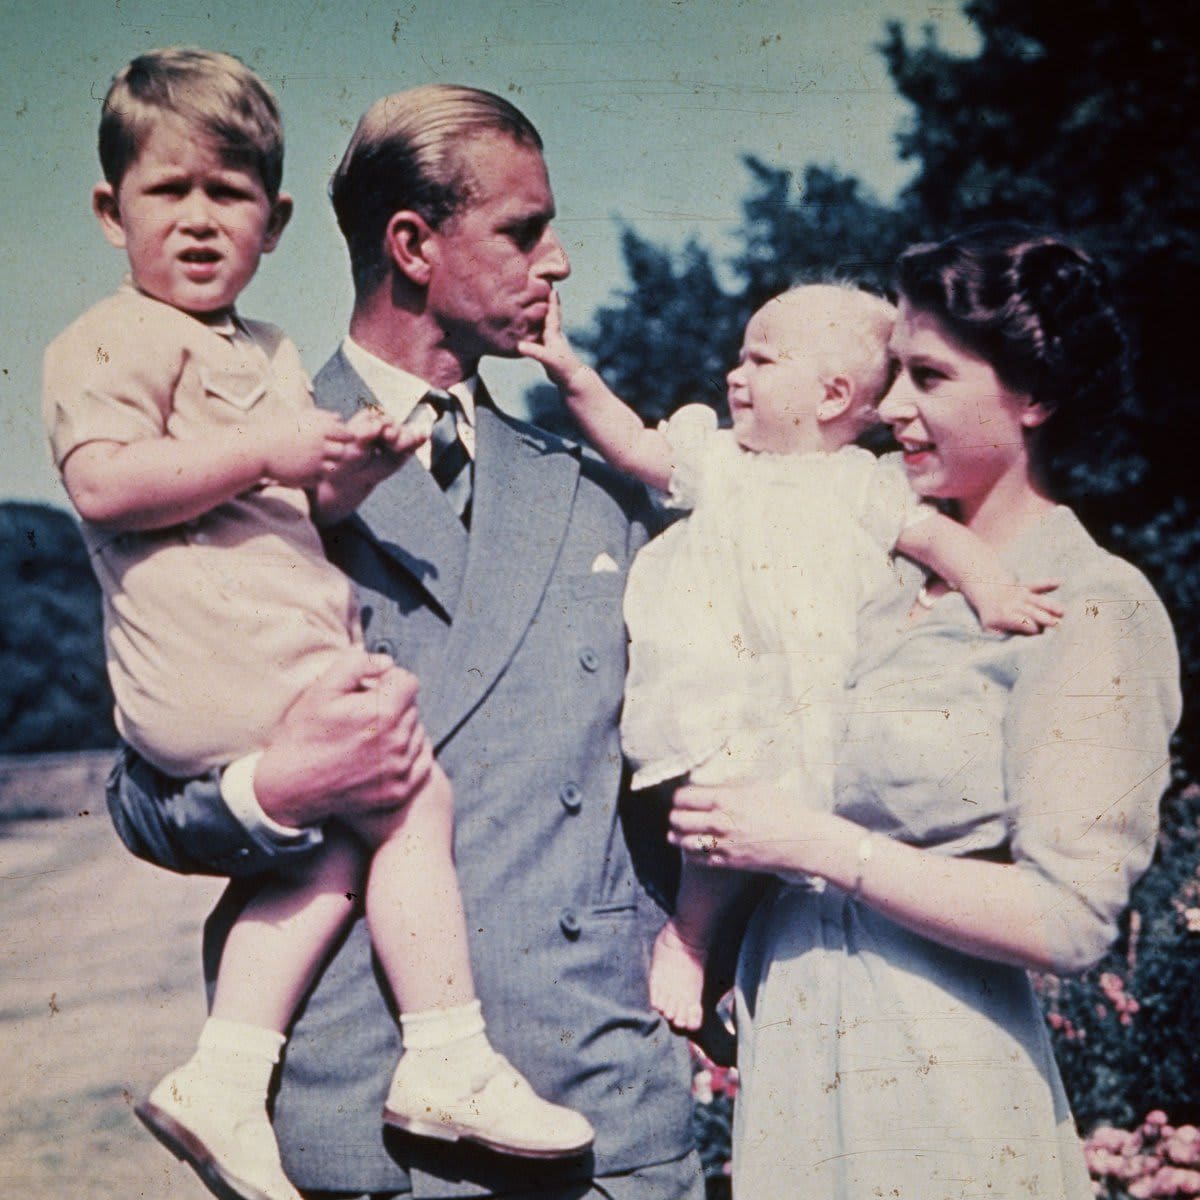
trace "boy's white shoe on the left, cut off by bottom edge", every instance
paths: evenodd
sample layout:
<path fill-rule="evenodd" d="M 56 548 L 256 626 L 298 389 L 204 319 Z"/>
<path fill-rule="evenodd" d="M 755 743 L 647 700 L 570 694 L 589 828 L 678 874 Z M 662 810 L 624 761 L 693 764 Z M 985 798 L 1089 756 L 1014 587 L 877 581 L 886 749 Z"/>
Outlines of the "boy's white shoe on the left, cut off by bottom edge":
<path fill-rule="evenodd" d="M 304 1200 L 283 1174 L 266 1109 L 238 1104 L 220 1079 L 192 1063 L 133 1111 L 221 1200 Z"/>

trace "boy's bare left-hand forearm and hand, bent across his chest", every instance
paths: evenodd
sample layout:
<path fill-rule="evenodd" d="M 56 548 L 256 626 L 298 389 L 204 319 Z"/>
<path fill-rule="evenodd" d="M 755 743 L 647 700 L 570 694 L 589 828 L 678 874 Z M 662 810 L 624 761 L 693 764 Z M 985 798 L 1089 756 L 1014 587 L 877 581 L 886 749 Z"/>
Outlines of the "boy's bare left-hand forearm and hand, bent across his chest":
<path fill-rule="evenodd" d="M 264 480 L 316 487 L 354 442 L 354 431 L 335 414 L 312 409 L 270 430 L 85 442 L 62 463 L 62 481 L 85 521 L 122 532 L 162 529 Z"/>

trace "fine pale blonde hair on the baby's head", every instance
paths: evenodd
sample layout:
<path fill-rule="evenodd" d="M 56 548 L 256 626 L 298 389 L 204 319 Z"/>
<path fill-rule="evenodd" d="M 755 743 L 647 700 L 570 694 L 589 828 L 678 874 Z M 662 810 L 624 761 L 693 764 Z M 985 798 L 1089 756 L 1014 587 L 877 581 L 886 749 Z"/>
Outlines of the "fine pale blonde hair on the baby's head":
<path fill-rule="evenodd" d="M 768 304 L 803 308 L 794 316 L 812 326 L 822 370 L 845 376 L 854 388 L 851 415 L 857 432 L 877 424 L 876 409 L 892 386 L 888 346 L 895 307 L 883 296 L 841 280 L 797 284 Z"/>

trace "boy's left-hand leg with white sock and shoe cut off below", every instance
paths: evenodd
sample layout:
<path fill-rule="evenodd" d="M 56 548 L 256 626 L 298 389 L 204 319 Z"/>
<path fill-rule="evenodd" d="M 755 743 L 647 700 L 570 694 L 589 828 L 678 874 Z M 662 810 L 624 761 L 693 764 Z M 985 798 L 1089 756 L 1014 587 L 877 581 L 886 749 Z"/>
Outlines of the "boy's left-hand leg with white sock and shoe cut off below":
<path fill-rule="evenodd" d="M 150 1132 L 218 1195 L 301 1200 L 266 1097 L 284 1031 L 354 911 L 365 859 L 332 828 L 319 853 L 264 882 L 229 931 L 196 1054 L 138 1105 Z"/>

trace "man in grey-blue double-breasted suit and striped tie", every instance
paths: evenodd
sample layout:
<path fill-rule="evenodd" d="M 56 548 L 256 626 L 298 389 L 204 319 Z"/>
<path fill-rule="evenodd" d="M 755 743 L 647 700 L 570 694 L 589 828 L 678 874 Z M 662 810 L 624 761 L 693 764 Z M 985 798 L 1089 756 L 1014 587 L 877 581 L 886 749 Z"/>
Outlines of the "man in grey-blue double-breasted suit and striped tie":
<path fill-rule="evenodd" d="M 355 305 L 318 401 L 376 403 L 396 420 L 422 402 L 450 413 L 331 532 L 330 554 L 359 587 L 367 649 L 421 682 L 420 715 L 455 786 L 493 1044 L 596 1140 L 574 1163 L 530 1164 L 385 1135 L 398 1033 L 359 922 L 289 1042 L 275 1109 L 284 1163 L 314 1195 L 698 1200 L 686 1057 L 648 1012 L 661 913 L 617 812 L 620 601 L 646 536 L 630 520 L 640 497 L 499 413 L 476 374 L 482 355 L 540 335 L 570 270 L 541 140 L 500 97 L 418 88 L 367 112 L 330 191 Z M 127 752 L 109 798 L 119 830 L 162 865 L 250 875 L 304 854 L 336 811 L 403 803 L 427 757 L 410 677 L 383 684 L 319 680 L 220 793 L 214 780 L 180 788 Z M 238 902 L 234 884 L 210 954 Z"/>

